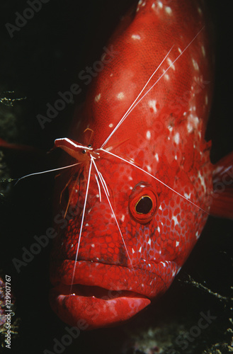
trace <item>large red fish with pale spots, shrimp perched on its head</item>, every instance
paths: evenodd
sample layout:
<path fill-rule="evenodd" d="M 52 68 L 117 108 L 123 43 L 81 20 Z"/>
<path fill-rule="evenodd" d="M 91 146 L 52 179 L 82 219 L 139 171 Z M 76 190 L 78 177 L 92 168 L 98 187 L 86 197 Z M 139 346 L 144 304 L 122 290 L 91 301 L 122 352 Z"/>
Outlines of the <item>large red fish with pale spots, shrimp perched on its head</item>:
<path fill-rule="evenodd" d="M 208 214 L 232 217 L 232 190 L 213 183 L 205 130 L 213 55 L 199 1 L 140 0 L 103 55 L 57 178 L 52 309 L 86 329 L 121 323 L 164 293 Z M 231 206 L 231 207 L 230 207 Z M 227 211 L 228 210 L 228 211 Z"/>

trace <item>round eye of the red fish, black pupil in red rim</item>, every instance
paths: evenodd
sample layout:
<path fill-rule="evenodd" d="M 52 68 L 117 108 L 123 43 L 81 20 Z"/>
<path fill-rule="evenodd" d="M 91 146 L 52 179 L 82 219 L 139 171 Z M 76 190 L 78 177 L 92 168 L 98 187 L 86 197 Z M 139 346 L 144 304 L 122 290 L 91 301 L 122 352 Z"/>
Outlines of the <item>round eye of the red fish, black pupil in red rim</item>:
<path fill-rule="evenodd" d="M 130 215 L 140 224 L 150 222 L 159 207 L 159 198 L 152 185 L 141 182 L 135 185 L 129 198 Z"/>

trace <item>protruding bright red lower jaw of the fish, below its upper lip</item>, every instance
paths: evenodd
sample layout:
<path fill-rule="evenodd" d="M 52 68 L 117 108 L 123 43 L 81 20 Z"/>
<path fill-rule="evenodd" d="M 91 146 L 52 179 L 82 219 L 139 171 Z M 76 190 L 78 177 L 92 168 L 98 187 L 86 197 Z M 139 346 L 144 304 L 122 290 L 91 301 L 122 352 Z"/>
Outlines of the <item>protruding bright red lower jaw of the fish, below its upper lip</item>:
<path fill-rule="evenodd" d="M 113 326 L 130 319 L 150 304 L 143 295 L 130 291 L 106 290 L 101 287 L 59 284 L 50 290 L 54 312 L 69 326 L 81 322 L 82 329 Z"/>

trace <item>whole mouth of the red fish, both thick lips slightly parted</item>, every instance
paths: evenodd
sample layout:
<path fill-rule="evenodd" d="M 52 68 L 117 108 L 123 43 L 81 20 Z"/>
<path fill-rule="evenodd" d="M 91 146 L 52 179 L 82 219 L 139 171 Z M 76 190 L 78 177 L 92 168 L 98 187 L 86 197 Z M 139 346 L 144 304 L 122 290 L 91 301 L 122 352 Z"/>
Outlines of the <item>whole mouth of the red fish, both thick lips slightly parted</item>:
<path fill-rule="evenodd" d="M 120 324 L 147 307 L 149 297 L 167 289 L 166 282 L 159 277 L 154 292 L 152 282 L 157 275 L 148 272 L 147 267 L 152 268 L 70 260 L 53 264 L 51 307 L 62 321 L 80 329 Z"/>

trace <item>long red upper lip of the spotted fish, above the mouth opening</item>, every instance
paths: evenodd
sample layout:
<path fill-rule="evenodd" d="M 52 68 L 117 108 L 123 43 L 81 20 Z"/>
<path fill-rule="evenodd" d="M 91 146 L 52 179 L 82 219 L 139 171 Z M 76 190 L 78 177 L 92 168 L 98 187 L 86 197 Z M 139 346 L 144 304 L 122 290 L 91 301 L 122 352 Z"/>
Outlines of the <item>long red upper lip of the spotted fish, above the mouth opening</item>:
<path fill-rule="evenodd" d="M 144 261 L 137 267 L 67 259 L 52 265 L 51 282 L 55 286 L 63 284 L 70 287 L 73 284 L 109 291 L 130 291 L 151 299 L 168 289 L 179 270 L 174 261 Z"/>

